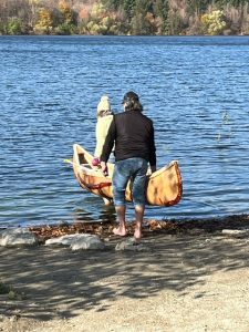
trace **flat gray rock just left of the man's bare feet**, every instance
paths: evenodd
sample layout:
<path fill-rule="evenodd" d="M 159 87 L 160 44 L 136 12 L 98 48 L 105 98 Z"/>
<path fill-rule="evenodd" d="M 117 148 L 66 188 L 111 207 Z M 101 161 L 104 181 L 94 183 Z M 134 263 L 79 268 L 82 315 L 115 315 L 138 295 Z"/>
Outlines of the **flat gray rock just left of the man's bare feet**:
<path fill-rule="evenodd" d="M 105 248 L 104 242 L 95 235 L 90 234 L 74 234 L 62 237 L 49 239 L 45 246 L 70 246 L 72 250 L 102 250 Z"/>

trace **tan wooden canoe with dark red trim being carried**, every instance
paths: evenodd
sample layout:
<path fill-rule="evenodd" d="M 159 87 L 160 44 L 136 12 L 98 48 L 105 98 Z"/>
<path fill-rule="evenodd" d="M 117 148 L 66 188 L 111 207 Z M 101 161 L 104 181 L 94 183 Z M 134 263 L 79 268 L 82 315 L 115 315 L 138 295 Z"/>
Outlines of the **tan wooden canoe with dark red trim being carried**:
<path fill-rule="evenodd" d="M 73 170 L 83 189 L 104 198 L 106 201 L 113 199 L 112 176 L 114 164 L 107 164 L 108 176 L 105 177 L 100 166 L 92 166 L 93 155 L 81 145 L 73 145 Z M 129 181 L 125 191 L 126 201 L 132 201 L 132 183 Z M 183 195 L 183 183 L 178 163 L 170 162 L 168 165 L 147 175 L 146 201 L 153 206 L 174 206 L 178 204 Z"/>

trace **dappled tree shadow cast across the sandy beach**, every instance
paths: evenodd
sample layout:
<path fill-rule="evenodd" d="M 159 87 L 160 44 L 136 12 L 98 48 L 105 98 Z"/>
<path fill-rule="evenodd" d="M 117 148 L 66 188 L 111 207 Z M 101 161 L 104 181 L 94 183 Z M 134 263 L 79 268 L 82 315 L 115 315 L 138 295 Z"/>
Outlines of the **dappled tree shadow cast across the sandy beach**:
<path fill-rule="evenodd" d="M 184 295 L 204 283 L 205 276 L 248 267 L 247 237 L 229 238 L 220 230 L 246 227 L 249 219 L 227 221 L 186 221 L 176 234 L 146 234 L 143 243 L 148 250 L 138 252 L 115 251 L 115 238 L 102 252 L 0 248 L 0 281 L 21 294 L 14 300 L 0 294 L 0 313 L 8 317 L 20 310 L 24 318 L 44 321 L 75 317 L 82 310 L 104 311 L 118 297 L 143 299 L 164 289 Z"/>

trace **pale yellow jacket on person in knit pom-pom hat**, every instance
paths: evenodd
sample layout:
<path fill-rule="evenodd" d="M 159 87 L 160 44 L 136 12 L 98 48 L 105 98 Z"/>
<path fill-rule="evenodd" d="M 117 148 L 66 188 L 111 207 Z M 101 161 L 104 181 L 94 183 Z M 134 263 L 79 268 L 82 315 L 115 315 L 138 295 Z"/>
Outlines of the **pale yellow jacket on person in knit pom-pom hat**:
<path fill-rule="evenodd" d="M 113 121 L 113 114 L 103 116 L 103 117 L 97 117 L 96 122 L 96 147 L 94 152 L 94 156 L 98 157 L 102 154 L 103 145 L 105 143 L 105 137 L 108 133 L 110 125 Z"/>

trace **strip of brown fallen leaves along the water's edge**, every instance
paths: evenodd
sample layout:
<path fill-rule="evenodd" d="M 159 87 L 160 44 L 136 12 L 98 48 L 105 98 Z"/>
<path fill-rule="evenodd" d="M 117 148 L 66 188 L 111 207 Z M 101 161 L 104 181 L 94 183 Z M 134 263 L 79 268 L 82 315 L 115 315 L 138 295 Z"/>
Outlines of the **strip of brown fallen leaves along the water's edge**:
<path fill-rule="evenodd" d="M 191 229 L 198 228 L 207 230 L 208 232 L 216 232 L 222 228 L 241 228 L 246 227 L 249 222 L 248 214 L 229 215 L 225 217 L 210 217 L 210 218 L 181 218 L 181 219 L 146 219 L 143 222 L 143 234 L 146 237 L 148 234 L 179 234 L 188 232 Z M 59 224 L 41 224 L 34 226 L 11 226 L 1 227 L 0 231 L 11 228 L 27 228 L 31 232 L 35 234 L 40 241 L 43 242 L 46 239 L 53 237 L 60 237 L 69 234 L 92 234 L 98 235 L 102 239 L 105 238 L 117 238 L 113 235 L 112 230 L 116 227 L 115 221 L 81 221 L 81 222 L 59 222 Z M 127 237 L 133 236 L 135 222 L 127 221 Z"/>

